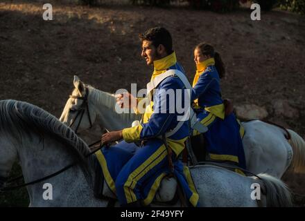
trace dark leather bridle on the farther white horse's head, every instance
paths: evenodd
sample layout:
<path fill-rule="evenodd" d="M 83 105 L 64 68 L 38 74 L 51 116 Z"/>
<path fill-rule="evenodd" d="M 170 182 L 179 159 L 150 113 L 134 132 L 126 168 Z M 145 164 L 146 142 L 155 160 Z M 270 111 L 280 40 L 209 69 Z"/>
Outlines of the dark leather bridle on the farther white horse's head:
<path fill-rule="evenodd" d="M 88 88 L 85 88 L 85 96 L 74 96 L 74 95 L 70 95 L 70 98 L 74 98 L 74 99 L 82 99 L 82 104 L 80 105 L 80 108 L 78 108 L 78 113 L 76 114 L 76 117 L 74 117 L 74 119 L 72 120 L 71 124 L 69 125 L 69 127 L 71 128 L 71 126 L 76 122 L 76 119 L 78 119 L 78 116 L 80 116 L 80 120 L 78 121 L 78 125 L 76 126 L 75 129 L 75 133 L 78 133 L 78 128 L 80 126 L 80 122 L 82 122 L 82 117 L 84 116 L 84 113 L 87 109 L 87 115 L 88 115 L 88 119 L 89 119 L 89 124 L 90 127 L 92 128 L 92 120 L 90 117 L 90 113 L 89 113 L 89 105 L 88 105 L 88 95 L 89 95 L 89 90 Z"/>

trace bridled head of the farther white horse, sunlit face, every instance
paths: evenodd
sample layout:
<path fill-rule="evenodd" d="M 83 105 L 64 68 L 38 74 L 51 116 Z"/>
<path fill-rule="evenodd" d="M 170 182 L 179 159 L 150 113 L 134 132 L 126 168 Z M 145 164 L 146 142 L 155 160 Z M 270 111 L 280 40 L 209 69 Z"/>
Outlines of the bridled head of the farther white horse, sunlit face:
<path fill-rule="evenodd" d="M 60 121 L 79 132 L 92 127 L 96 120 L 96 111 L 90 101 L 89 87 L 77 76 L 74 76 L 73 85 L 75 88 L 64 106 Z"/>

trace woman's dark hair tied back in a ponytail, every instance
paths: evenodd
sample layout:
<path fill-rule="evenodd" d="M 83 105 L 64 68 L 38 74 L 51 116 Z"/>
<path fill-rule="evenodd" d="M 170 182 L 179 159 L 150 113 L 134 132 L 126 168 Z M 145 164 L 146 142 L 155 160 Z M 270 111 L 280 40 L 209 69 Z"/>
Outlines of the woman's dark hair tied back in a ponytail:
<path fill-rule="evenodd" d="M 198 48 L 202 55 L 209 55 L 215 59 L 215 67 L 220 78 L 225 77 L 225 65 L 218 52 L 215 52 L 214 47 L 207 43 L 200 43 L 195 48 Z"/>

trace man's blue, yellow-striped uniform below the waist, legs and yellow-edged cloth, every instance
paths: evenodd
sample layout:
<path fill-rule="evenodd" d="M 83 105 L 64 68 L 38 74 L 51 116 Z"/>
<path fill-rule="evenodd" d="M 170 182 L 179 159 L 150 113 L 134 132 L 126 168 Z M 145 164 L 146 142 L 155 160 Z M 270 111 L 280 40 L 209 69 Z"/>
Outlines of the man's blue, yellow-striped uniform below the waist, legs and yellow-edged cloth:
<path fill-rule="evenodd" d="M 124 205 L 137 200 L 150 204 L 155 197 L 162 178 L 170 173 L 168 153 L 163 142 L 149 140 L 138 148 L 135 144 L 120 142 L 97 152 L 107 185 Z M 172 156 L 175 175 L 191 204 L 198 204 L 198 193 L 191 179 L 189 169 Z"/>

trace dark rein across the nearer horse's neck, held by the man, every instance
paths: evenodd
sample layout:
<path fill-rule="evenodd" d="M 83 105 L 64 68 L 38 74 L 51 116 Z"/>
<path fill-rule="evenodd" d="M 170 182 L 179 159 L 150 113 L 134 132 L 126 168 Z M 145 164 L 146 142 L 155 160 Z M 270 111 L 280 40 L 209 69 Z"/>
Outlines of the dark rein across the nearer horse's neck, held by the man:
<path fill-rule="evenodd" d="M 105 144 L 101 144 L 101 140 L 98 140 L 96 142 L 94 142 L 93 144 L 90 144 L 90 146 L 94 146 L 96 144 L 100 144 L 100 146 L 98 148 L 96 148 L 96 150 L 90 152 L 89 154 L 85 155 L 85 158 L 89 157 L 90 155 L 93 155 L 94 153 L 96 153 L 97 151 L 101 150 L 101 148 L 103 148 L 103 146 L 105 146 Z M 38 180 L 34 180 L 34 181 L 31 181 L 31 182 L 27 182 L 25 184 L 20 184 L 20 185 L 17 185 L 17 186 L 6 186 L 6 187 L 3 187 L 3 188 L 0 188 L 0 193 L 1 192 L 5 192 L 5 191 L 12 191 L 12 190 L 15 190 L 15 189 L 19 189 L 21 187 L 24 187 L 24 186 L 28 186 L 28 185 L 32 185 L 32 184 L 37 184 L 39 182 L 42 182 L 44 180 L 48 180 L 49 178 L 51 177 L 55 177 L 56 175 L 64 172 L 64 171 L 67 171 L 67 169 L 70 169 L 72 166 L 76 166 L 78 164 L 78 162 L 73 162 L 67 166 L 64 166 L 64 168 L 60 169 L 59 171 L 56 171 L 55 173 L 52 173 L 50 175 L 47 175 L 45 177 L 42 177 Z M 14 182 L 16 180 L 19 180 L 21 179 L 21 177 L 23 177 L 22 175 L 19 175 L 18 177 L 15 177 L 15 178 L 12 178 L 11 180 L 8 180 L 7 177 L 1 177 L 0 176 L 0 184 L 5 184 L 5 183 L 11 183 L 11 182 Z M 6 180 L 8 180 L 8 182 L 6 182 Z"/>

